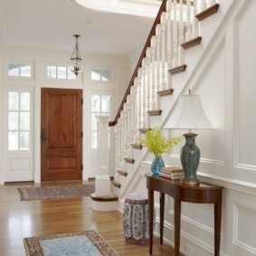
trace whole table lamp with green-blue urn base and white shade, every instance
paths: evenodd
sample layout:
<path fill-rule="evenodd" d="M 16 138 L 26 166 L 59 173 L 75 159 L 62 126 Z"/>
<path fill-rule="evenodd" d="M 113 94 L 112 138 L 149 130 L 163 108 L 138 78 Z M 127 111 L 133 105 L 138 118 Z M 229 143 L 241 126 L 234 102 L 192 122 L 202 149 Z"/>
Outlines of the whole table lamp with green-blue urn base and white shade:
<path fill-rule="evenodd" d="M 200 149 L 194 143 L 197 134 L 192 129 L 212 129 L 213 126 L 207 119 L 199 95 L 190 93 L 182 95 L 183 105 L 177 122 L 173 129 L 188 129 L 188 133 L 184 134 L 185 146 L 181 148 L 180 159 L 184 169 L 183 185 L 199 185 L 196 177 L 197 167 L 200 162 Z"/>

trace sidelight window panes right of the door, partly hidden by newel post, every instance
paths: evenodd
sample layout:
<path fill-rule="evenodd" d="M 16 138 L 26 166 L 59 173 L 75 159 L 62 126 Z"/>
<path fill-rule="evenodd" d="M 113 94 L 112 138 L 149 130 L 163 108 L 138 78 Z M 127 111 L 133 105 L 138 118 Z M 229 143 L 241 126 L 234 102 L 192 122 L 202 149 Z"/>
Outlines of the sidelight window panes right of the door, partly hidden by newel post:
<path fill-rule="evenodd" d="M 109 114 L 110 96 L 91 95 L 91 148 L 98 148 L 98 119 L 97 115 Z"/>

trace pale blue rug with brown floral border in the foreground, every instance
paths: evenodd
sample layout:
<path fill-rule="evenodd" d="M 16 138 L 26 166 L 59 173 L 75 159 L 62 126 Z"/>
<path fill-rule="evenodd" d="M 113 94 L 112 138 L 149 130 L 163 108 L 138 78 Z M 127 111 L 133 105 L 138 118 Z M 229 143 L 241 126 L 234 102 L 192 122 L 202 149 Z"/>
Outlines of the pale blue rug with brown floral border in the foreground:
<path fill-rule="evenodd" d="M 119 256 L 95 231 L 24 238 L 27 256 Z"/>

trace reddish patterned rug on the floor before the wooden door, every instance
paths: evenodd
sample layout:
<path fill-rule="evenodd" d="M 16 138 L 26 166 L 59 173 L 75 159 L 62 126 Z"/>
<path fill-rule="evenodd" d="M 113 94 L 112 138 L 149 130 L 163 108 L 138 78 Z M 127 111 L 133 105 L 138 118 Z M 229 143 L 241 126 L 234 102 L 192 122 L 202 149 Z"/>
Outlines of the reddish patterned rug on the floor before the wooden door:
<path fill-rule="evenodd" d="M 17 188 L 21 201 L 66 199 L 88 196 L 95 192 L 94 184 L 59 185 Z"/>

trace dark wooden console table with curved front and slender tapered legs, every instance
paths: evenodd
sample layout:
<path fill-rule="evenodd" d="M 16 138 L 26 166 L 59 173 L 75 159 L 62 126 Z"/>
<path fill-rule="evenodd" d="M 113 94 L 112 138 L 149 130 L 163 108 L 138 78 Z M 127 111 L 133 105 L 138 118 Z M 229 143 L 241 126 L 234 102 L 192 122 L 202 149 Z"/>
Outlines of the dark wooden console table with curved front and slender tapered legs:
<path fill-rule="evenodd" d="M 163 244 L 165 194 L 174 198 L 175 214 L 175 256 L 179 255 L 181 202 L 214 204 L 214 255 L 220 255 L 223 186 L 200 182 L 200 185 L 182 185 L 180 180 L 168 180 L 161 177 L 147 176 L 149 204 L 149 254 L 153 246 L 154 192 L 160 194 L 160 243 Z"/>

